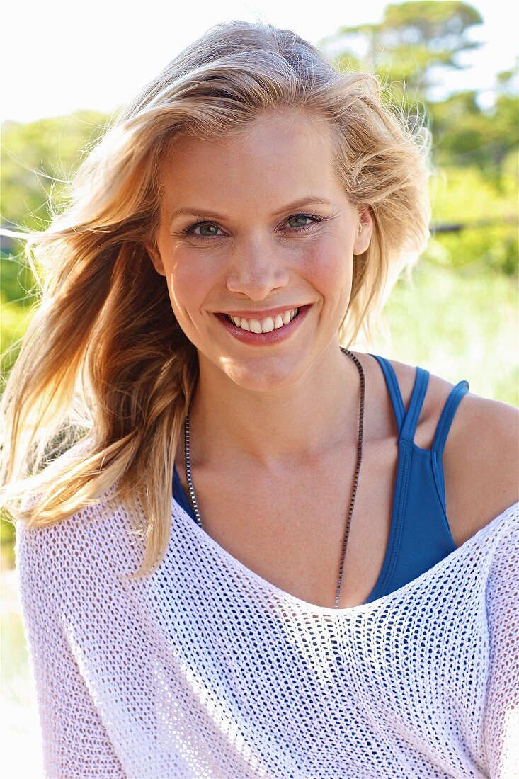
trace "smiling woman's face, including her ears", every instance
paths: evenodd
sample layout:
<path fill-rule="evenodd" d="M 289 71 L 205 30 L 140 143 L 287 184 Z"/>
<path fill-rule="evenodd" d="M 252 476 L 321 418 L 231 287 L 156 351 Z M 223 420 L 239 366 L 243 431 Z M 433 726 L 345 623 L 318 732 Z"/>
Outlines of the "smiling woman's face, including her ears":
<path fill-rule="evenodd" d="M 162 185 L 147 249 L 201 377 L 275 390 L 338 351 L 353 255 L 368 247 L 372 220 L 334 176 L 325 120 L 277 112 L 239 138 L 178 139 Z M 294 308 L 302 310 L 287 325 L 283 312 Z"/>

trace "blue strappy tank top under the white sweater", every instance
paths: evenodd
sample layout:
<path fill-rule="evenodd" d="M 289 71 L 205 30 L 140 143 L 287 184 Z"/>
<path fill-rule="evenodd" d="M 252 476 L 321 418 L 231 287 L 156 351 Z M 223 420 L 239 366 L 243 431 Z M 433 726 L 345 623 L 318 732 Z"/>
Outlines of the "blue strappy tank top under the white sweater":
<path fill-rule="evenodd" d="M 390 534 L 386 555 L 375 587 L 365 601 L 390 594 L 421 576 L 454 552 L 456 545 L 447 520 L 442 454 L 450 425 L 468 382 L 458 382 L 443 406 L 431 449 L 414 442 L 422 404 L 429 383 L 429 371 L 416 366 L 415 384 L 406 413 L 394 369 L 386 358 L 372 354 L 382 368 L 397 422 L 397 476 L 394 483 Z M 191 502 L 182 488 L 175 466 L 173 497 L 195 519 Z"/>

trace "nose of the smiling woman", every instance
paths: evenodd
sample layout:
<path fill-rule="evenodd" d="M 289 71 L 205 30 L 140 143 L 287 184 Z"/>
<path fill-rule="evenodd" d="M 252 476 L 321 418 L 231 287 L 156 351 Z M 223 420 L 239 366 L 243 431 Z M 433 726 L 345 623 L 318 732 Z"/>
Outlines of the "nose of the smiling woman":
<path fill-rule="evenodd" d="M 251 300 L 263 300 L 271 291 L 288 284 L 288 264 L 270 244 L 237 248 L 228 272 L 231 292 L 246 294 Z"/>

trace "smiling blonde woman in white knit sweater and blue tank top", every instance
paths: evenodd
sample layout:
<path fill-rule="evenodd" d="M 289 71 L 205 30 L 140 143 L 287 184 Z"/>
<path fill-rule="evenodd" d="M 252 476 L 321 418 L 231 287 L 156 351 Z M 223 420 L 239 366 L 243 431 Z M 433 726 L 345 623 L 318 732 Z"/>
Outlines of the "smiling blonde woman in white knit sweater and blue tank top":
<path fill-rule="evenodd" d="M 34 239 L 4 478 L 49 776 L 511 775 L 517 410 L 348 348 L 427 240 L 423 137 L 222 23 Z"/>

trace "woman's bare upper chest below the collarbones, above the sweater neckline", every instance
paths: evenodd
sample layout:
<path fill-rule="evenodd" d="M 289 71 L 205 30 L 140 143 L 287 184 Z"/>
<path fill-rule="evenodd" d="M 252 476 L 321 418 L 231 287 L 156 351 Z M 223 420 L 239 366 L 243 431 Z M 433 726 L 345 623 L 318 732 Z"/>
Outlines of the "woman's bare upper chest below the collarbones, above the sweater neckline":
<path fill-rule="evenodd" d="M 193 472 L 203 530 L 284 592 L 333 607 L 355 466 L 353 455 L 345 455 L 270 474 L 246 468 Z M 189 495 L 182 464 L 177 467 Z M 396 471 L 394 440 L 367 447 L 351 513 L 339 608 L 364 603 L 380 576 Z"/>

